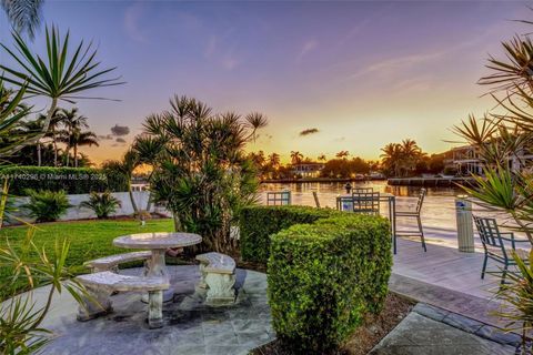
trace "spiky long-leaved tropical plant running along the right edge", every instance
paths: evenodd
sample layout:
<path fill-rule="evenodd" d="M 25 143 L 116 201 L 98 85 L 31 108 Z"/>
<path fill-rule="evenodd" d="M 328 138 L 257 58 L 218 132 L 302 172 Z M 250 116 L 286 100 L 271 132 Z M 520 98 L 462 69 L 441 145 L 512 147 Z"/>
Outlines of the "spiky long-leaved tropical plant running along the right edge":
<path fill-rule="evenodd" d="M 474 175 L 477 186 L 463 189 L 474 203 L 505 212 L 509 226 L 525 234 L 533 247 L 533 166 L 525 159 L 533 145 L 533 45 L 525 36 L 504 42 L 503 48 L 506 60 L 491 57 L 491 74 L 480 83 L 492 85 L 491 94 L 504 113 L 490 112 L 481 120 L 471 115 L 454 131 L 476 150 L 484 166 L 484 176 Z M 497 98 L 502 93 L 504 98 Z M 497 292 L 504 301 L 499 315 L 510 321 L 510 329 L 521 331 L 525 345 L 533 321 L 533 272 L 526 261 L 513 257 L 517 272 L 510 274 L 512 284 Z M 531 352 L 522 346 L 521 354 Z"/>

